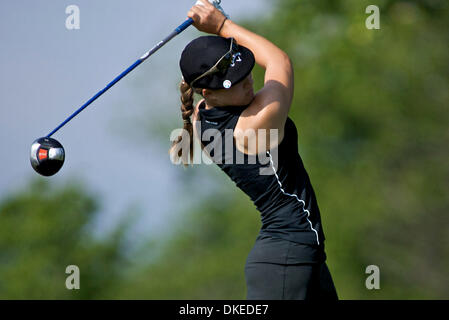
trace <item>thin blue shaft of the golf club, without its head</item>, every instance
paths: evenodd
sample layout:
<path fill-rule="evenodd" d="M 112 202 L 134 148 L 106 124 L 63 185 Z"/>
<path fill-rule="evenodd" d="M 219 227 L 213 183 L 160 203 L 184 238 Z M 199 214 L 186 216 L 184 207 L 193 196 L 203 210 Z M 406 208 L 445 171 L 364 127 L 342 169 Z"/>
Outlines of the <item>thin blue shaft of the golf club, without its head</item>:
<path fill-rule="evenodd" d="M 138 65 L 140 65 L 142 62 L 144 62 L 148 57 L 150 57 L 153 53 L 155 53 L 157 50 L 162 48 L 167 42 L 169 42 L 171 39 L 176 37 L 178 34 L 183 32 L 185 29 L 187 29 L 191 24 L 193 23 L 192 18 L 187 19 L 184 21 L 179 27 L 177 27 L 172 33 L 170 33 L 166 38 L 164 38 L 162 41 L 160 41 L 158 44 L 156 44 L 150 51 L 146 52 L 142 57 L 140 57 L 136 62 L 134 62 L 131 66 L 129 66 L 128 69 L 123 71 L 118 77 L 116 77 L 114 80 L 112 80 L 104 89 L 100 90 L 97 94 L 95 94 L 92 98 L 89 99 L 84 105 L 81 106 L 78 110 L 76 110 L 70 117 L 68 117 L 64 122 L 62 122 L 58 127 L 56 127 L 52 132 L 50 132 L 47 135 L 47 138 L 51 137 L 54 133 L 56 133 L 59 129 L 61 129 L 64 125 L 67 124 L 70 120 L 72 120 L 74 117 L 76 117 L 81 111 L 83 111 L 85 108 L 87 108 L 92 102 L 97 100 L 98 97 L 100 97 L 103 93 L 108 91 L 114 84 L 119 82 L 123 77 L 125 77 L 128 73 L 133 71 Z"/>

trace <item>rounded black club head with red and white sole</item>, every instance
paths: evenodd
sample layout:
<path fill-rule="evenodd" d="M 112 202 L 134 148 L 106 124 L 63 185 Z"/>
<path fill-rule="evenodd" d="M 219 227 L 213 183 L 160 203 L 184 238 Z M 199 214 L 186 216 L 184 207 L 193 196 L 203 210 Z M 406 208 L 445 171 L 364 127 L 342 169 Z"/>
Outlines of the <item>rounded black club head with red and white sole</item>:
<path fill-rule="evenodd" d="M 62 168 L 64 159 L 64 147 L 55 139 L 42 137 L 31 145 L 31 166 L 40 175 L 49 177 L 56 174 Z"/>

